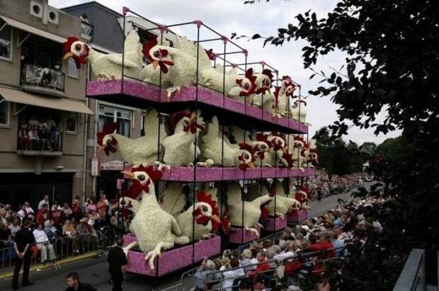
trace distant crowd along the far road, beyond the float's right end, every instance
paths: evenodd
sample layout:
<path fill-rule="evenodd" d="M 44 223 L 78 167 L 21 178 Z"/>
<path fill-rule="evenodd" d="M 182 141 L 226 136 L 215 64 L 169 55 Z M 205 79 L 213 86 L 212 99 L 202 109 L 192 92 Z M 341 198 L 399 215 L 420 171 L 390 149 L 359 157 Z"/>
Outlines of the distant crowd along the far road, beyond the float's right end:
<path fill-rule="evenodd" d="M 366 173 L 332 175 L 329 178 L 328 173 L 317 171 L 315 176 L 309 177 L 309 189 L 314 193 L 313 197 L 320 200 L 330 195 L 347 193 L 355 187 L 363 186 L 365 181 L 371 181 Z"/>

